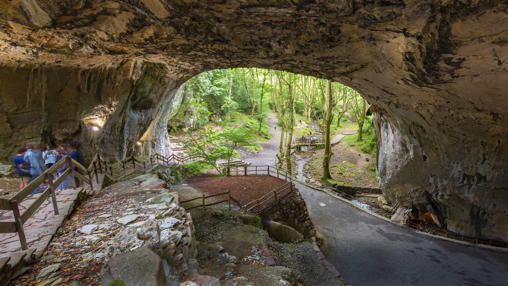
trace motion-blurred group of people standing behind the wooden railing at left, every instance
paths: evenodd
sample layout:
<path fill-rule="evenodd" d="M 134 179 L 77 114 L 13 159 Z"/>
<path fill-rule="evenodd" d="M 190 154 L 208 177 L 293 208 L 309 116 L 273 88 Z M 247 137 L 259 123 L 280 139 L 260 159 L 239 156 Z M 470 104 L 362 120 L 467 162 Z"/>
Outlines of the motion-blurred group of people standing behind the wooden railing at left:
<path fill-rule="evenodd" d="M 37 179 L 37 177 L 39 177 L 46 169 L 53 166 L 66 155 L 70 155 L 74 160 L 83 164 L 83 155 L 79 150 L 79 142 L 77 141 L 70 141 L 67 149 L 63 146 L 53 149 L 51 145 L 46 144 L 44 146 L 44 151 L 41 151 L 41 145 L 37 142 L 28 142 L 24 148 L 20 148 L 18 150 L 18 154 L 16 154 L 13 158 L 16 174 L 21 178 L 19 182 L 19 189 L 21 190 L 26 187 L 31 181 Z M 60 166 L 56 171 L 55 176 L 53 176 L 53 180 L 62 176 L 63 172 L 65 172 L 68 168 L 69 162 Z M 79 171 L 78 168 L 75 168 L 75 171 Z M 58 189 L 68 189 L 70 187 L 70 180 L 71 176 L 68 176 L 58 186 Z M 79 187 L 79 180 L 75 179 L 75 182 L 76 187 Z M 41 193 L 47 187 L 48 185 L 45 181 L 32 193 Z"/>

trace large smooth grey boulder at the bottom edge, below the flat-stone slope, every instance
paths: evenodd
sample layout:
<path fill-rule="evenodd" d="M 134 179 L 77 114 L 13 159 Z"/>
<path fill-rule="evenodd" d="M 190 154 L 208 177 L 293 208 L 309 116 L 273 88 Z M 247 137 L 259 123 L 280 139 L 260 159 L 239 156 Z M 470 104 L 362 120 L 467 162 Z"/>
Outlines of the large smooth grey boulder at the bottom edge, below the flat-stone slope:
<path fill-rule="evenodd" d="M 147 246 L 119 253 L 107 261 L 101 270 L 102 284 L 114 279 L 122 280 L 126 286 L 166 285 L 162 259 Z"/>

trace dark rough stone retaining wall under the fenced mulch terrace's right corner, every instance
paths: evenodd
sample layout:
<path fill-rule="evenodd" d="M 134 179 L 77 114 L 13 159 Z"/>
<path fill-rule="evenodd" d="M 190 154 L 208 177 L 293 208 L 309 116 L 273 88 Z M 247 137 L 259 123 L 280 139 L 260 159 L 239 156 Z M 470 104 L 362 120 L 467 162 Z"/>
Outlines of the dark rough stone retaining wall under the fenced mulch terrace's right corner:
<path fill-rule="evenodd" d="M 292 194 L 281 199 L 277 205 L 274 205 L 262 215 L 288 224 L 302 233 L 307 239 L 315 235 L 314 224 L 309 217 L 305 201 L 298 191 L 294 191 Z"/>

